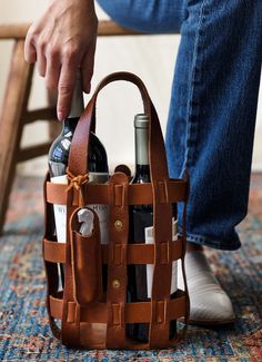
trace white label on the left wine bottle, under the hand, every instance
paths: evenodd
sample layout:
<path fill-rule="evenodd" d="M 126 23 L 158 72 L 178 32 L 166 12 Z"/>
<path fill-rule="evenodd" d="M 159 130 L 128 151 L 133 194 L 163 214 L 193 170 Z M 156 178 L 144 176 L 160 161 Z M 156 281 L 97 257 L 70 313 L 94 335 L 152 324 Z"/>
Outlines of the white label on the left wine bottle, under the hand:
<path fill-rule="evenodd" d="M 104 184 L 108 182 L 107 173 L 90 173 L 89 183 Z M 67 175 L 51 177 L 51 183 L 68 184 Z M 99 204 L 89 204 L 88 207 L 92 208 L 99 217 L 101 244 L 108 244 L 109 231 L 109 206 Z M 54 223 L 57 231 L 57 238 L 59 243 L 67 242 L 67 206 L 53 205 Z"/>

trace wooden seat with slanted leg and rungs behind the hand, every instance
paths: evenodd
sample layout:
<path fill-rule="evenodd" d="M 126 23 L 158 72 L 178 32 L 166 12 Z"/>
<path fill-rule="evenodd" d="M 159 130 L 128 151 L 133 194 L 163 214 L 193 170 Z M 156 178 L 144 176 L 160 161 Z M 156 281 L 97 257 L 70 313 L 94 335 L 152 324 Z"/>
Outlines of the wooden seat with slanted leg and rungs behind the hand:
<path fill-rule="evenodd" d="M 16 165 L 28 159 L 46 155 L 56 134 L 52 123 L 50 139 L 44 144 L 21 148 L 23 127 L 36 120 L 52 121 L 56 119 L 56 100 L 49 92 L 47 108 L 28 110 L 28 101 L 32 86 L 33 65 L 28 65 L 23 58 L 24 38 L 30 25 L 0 26 L 0 40 L 13 40 L 11 66 L 6 87 L 6 94 L 0 110 L 0 233 L 2 232 L 6 212 L 9 203 Z M 142 35 L 124 29 L 113 21 L 100 21 L 100 37 Z"/>

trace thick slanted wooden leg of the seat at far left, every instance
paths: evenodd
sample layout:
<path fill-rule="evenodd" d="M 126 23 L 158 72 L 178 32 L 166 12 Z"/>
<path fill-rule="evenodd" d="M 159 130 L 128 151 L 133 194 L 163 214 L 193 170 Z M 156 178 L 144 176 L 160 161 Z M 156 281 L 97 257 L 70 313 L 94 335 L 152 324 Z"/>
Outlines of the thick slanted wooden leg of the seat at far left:
<path fill-rule="evenodd" d="M 0 115 L 0 233 L 3 228 L 22 135 L 33 67 L 23 59 L 23 40 L 14 43 Z"/>

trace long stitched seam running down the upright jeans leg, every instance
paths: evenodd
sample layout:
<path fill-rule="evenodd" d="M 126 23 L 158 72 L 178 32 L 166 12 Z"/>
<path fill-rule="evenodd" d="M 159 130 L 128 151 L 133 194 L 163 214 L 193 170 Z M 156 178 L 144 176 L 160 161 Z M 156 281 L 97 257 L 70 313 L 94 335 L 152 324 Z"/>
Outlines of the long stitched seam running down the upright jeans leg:
<path fill-rule="evenodd" d="M 194 106 L 193 106 L 193 100 L 194 100 L 194 96 L 195 96 L 194 89 L 195 89 L 196 63 L 199 60 L 199 49 L 200 49 L 200 30 L 201 30 L 201 26 L 203 23 L 204 6 L 206 4 L 206 2 L 208 2 L 208 0 L 203 0 L 203 2 L 201 4 L 200 11 L 199 11 L 199 22 L 198 22 L 198 28 L 196 28 L 195 38 L 194 38 L 191 88 L 190 88 L 189 102 L 188 102 L 188 114 L 187 114 L 187 119 L 185 119 L 187 125 L 188 125 L 187 126 L 187 138 L 185 138 L 187 146 L 185 146 L 184 163 L 183 163 L 183 166 L 181 169 L 180 177 L 182 177 L 182 175 L 184 174 L 185 168 L 189 168 L 190 166 L 193 165 L 193 163 L 192 163 L 192 146 L 190 146 L 190 143 L 192 143 L 192 140 L 195 140 L 195 137 L 193 138 L 192 135 L 193 135 L 193 133 L 194 134 L 196 133 L 196 126 L 199 125 L 199 123 L 196 123 L 196 120 L 193 121 L 194 127 L 192 124 L 193 107 L 196 107 L 196 105 L 198 105 L 196 101 L 194 101 Z M 198 71 L 201 71 L 201 70 L 202 70 L 202 67 L 200 67 Z M 198 114 L 195 116 L 199 117 L 199 109 L 198 109 Z"/>

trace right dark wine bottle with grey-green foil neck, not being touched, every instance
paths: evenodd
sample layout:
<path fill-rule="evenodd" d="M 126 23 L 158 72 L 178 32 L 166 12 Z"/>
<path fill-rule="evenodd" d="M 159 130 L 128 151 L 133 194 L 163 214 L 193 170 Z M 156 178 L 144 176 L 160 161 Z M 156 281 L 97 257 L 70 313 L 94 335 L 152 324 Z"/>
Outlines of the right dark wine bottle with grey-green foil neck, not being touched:
<path fill-rule="evenodd" d="M 150 183 L 149 166 L 149 118 L 137 115 L 134 118 L 135 134 L 135 175 L 133 184 Z M 152 205 L 134 205 L 130 207 L 129 243 L 153 243 L 153 207 Z M 174 226 L 174 222 L 173 222 Z M 173 228 L 174 229 L 174 228 Z M 173 233 L 174 236 L 174 233 Z M 173 265 L 171 297 L 177 291 L 177 265 Z M 128 266 L 128 302 L 150 301 L 152 291 L 153 265 Z M 175 321 L 170 323 L 170 339 L 175 333 Z M 141 342 L 149 341 L 149 323 L 127 325 L 127 335 Z"/>

